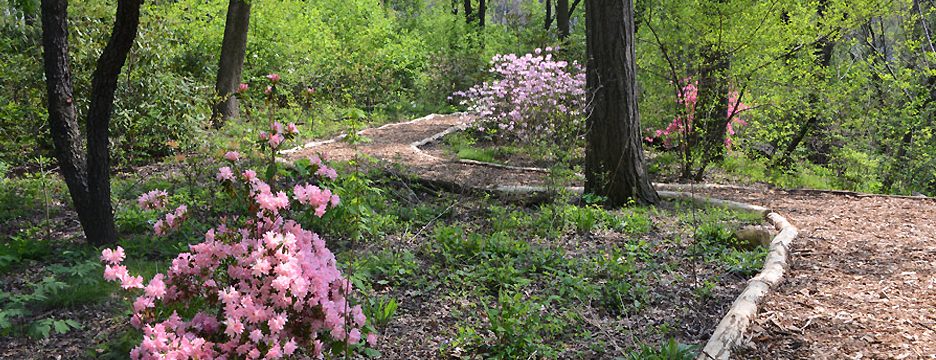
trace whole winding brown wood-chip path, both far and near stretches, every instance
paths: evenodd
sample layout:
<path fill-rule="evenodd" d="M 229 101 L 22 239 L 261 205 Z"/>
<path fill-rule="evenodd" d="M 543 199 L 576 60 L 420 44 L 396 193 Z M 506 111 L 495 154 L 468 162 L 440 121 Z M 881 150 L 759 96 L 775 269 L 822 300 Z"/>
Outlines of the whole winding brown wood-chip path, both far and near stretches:
<path fill-rule="evenodd" d="M 436 115 L 312 143 L 287 158 L 358 152 L 419 178 L 466 188 L 542 185 L 545 173 L 466 164 L 420 151 L 466 118 Z M 436 137 L 435 139 L 438 139 Z M 738 359 L 936 359 L 936 199 L 772 189 L 698 189 L 773 209 L 800 229 L 790 269 L 763 303 Z"/>

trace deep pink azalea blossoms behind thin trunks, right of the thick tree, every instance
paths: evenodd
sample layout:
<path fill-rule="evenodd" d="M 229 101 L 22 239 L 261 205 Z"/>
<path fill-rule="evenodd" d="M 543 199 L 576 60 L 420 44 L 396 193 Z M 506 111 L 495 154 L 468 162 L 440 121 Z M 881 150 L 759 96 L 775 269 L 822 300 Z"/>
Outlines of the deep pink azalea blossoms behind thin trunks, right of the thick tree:
<path fill-rule="evenodd" d="M 690 81 L 684 79 L 686 85 L 682 87 L 676 102 L 682 104 L 686 110 L 682 115 L 676 115 L 673 121 L 663 129 L 657 129 L 653 132 L 653 137 L 646 137 L 644 140 L 648 143 L 662 141 L 666 148 L 673 147 L 673 139 L 685 135 L 687 130 L 691 131 L 692 123 L 695 119 L 696 103 L 699 100 L 699 81 Z M 725 147 L 731 149 L 731 137 L 735 135 L 735 126 L 741 127 L 747 125 L 747 122 L 739 114 L 750 107 L 742 103 L 737 91 L 728 92 L 728 111 L 725 114 Z"/>

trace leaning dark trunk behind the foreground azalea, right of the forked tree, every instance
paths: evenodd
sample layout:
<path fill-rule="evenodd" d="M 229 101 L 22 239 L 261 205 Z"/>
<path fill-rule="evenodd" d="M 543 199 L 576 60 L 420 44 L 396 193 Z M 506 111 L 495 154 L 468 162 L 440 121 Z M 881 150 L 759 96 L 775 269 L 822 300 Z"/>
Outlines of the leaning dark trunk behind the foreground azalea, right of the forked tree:
<path fill-rule="evenodd" d="M 218 61 L 218 79 L 215 83 L 215 92 L 221 100 L 215 104 L 211 116 L 212 125 L 216 128 L 238 114 L 237 97 L 234 96 L 234 92 L 241 83 L 241 73 L 244 70 L 249 23 L 250 1 L 231 0 L 224 22 L 221 59 Z"/>

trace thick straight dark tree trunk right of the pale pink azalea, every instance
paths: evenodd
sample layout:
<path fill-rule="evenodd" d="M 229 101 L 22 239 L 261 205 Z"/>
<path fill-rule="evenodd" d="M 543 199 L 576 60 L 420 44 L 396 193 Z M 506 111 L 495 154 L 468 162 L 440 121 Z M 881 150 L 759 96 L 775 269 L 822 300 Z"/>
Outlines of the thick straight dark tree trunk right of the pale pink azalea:
<path fill-rule="evenodd" d="M 585 191 L 611 206 L 660 198 L 647 175 L 637 111 L 632 0 L 587 0 L 587 86 L 593 96 L 587 126 Z"/>

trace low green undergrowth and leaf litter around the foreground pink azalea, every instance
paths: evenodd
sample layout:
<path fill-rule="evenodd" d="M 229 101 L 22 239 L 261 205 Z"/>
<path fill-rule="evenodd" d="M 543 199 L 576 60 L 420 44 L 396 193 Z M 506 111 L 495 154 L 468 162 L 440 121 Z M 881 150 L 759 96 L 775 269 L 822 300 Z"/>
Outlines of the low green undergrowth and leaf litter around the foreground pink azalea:
<path fill-rule="evenodd" d="M 114 182 L 125 263 L 145 277 L 186 251 L 211 216 L 156 237 L 152 214 L 133 204 L 136 194 L 171 189 L 173 203 L 224 209 L 214 200 L 219 189 L 205 186 L 218 165 L 190 157 L 166 166 Z M 307 225 L 332 234 L 328 246 L 359 291 L 356 301 L 381 336 L 375 351 L 385 357 L 687 358 L 765 254 L 735 243 L 734 229 L 762 221 L 744 213 L 682 203 L 612 210 L 563 202 L 521 206 L 422 188 L 366 162 L 336 168 L 348 174 L 332 186 L 342 194 L 342 207 Z M 5 181 L 28 201 L 40 196 L 24 191 L 32 180 Z M 56 204 L 53 212 L 71 216 L 63 202 Z M 31 214 L 21 219 L 42 217 Z M 134 331 L 94 336 L 99 328 L 68 317 L 68 309 L 96 308 L 94 317 L 123 319 L 125 313 L 114 309 L 129 306 L 100 281 L 97 249 L 63 240 L 76 225 L 50 235 L 41 220 L 23 224 L 31 225 L 0 248 L 6 321 L 0 324 L 9 324 L 2 331 L 78 333 L 94 343 L 88 353 L 94 357 L 139 343 Z M 430 321 L 418 315 L 426 311 L 442 314 L 444 325 L 431 334 L 418 332 Z M 401 319 L 409 325 L 395 325 Z M 703 328 L 680 325 L 686 323 Z M 430 335 L 439 340 L 418 340 Z M 412 337 L 417 343 L 408 342 Z"/>

